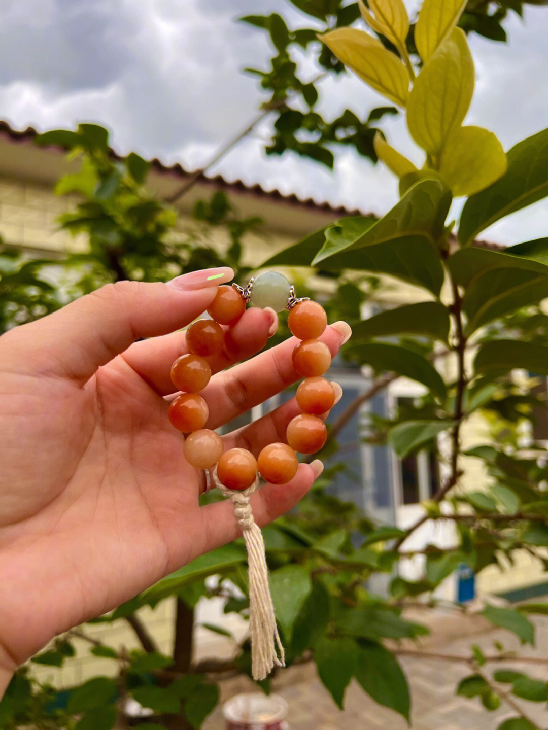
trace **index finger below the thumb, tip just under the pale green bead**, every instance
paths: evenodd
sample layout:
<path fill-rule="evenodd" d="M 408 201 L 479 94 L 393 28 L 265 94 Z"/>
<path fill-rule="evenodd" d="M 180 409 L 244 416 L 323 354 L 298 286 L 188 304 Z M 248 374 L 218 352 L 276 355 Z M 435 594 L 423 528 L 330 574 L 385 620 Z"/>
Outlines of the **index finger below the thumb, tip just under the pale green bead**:
<path fill-rule="evenodd" d="M 225 349 L 218 356 L 207 358 L 212 372 L 220 372 L 235 362 L 259 352 L 277 330 L 278 317 L 267 307 L 250 307 L 232 328 L 225 328 Z M 126 363 L 159 395 L 169 396 L 177 388 L 171 383 L 171 365 L 188 353 L 184 332 L 173 332 L 134 345 L 123 353 Z"/>

